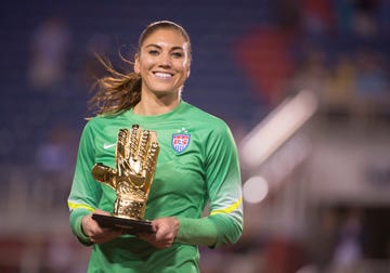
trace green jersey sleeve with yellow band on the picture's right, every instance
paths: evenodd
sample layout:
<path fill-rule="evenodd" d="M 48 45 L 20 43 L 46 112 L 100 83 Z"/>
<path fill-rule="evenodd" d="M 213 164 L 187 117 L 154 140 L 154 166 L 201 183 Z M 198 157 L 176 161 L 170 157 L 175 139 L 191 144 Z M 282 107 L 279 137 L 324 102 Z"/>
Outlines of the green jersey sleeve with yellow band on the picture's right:
<path fill-rule="evenodd" d="M 216 127 L 207 140 L 209 216 L 178 218 L 178 243 L 217 247 L 233 244 L 243 232 L 242 184 L 238 156 L 227 126 Z"/>

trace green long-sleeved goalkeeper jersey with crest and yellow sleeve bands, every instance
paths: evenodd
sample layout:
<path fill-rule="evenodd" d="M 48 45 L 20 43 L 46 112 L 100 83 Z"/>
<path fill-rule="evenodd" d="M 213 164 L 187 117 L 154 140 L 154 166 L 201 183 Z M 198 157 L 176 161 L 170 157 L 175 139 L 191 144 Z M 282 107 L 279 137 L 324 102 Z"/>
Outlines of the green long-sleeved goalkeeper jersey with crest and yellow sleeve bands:
<path fill-rule="evenodd" d="M 237 148 L 226 123 L 184 101 L 162 115 L 129 109 L 87 122 L 68 197 L 72 230 L 82 244 L 92 245 L 82 232 L 82 217 L 98 208 L 113 212 L 116 192 L 96 182 L 91 169 L 96 162 L 116 168 L 118 131 L 134 123 L 156 131 L 160 145 L 145 219 L 177 217 L 179 233 L 165 249 L 132 235 L 94 244 L 88 272 L 199 272 L 197 245 L 210 237 L 209 247 L 232 244 L 242 234 L 242 185 Z"/>

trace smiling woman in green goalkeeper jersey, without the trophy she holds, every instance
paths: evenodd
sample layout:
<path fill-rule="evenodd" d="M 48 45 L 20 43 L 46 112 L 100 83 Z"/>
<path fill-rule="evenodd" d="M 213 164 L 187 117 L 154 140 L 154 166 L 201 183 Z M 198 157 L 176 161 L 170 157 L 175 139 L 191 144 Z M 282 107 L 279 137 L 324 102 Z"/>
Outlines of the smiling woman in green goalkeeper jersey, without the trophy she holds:
<path fill-rule="evenodd" d="M 89 272 L 199 272 L 197 246 L 235 243 L 243 231 L 237 151 L 231 131 L 181 99 L 190 76 L 187 32 L 168 21 L 148 25 L 139 40 L 133 73 L 99 81 L 98 115 L 83 129 L 68 198 L 70 226 L 93 245 Z M 115 168 L 119 129 L 140 125 L 160 145 L 145 219 L 154 234 L 102 229 L 92 213 L 113 211 L 115 191 L 96 182 L 96 162 Z M 178 138 L 182 138 L 179 145 Z M 208 205 L 209 213 L 203 217 Z"/>

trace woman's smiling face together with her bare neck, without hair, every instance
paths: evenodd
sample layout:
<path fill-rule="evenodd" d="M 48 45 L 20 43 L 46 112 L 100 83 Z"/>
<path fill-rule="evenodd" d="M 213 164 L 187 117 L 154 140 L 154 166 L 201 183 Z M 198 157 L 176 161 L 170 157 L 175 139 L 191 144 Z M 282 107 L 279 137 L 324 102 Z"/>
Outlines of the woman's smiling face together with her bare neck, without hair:
<path fill-rule="evenodd" d="M 134 72 L 142 78 L 142 96 L 134 113 L 158 115 L 179 104 L 190 76 L 188 52 L 190 41 L 176 29 L 161 28 L 144 39 L 135 55 Z M 161 102 L 165 107 L 156 107 Z"/>

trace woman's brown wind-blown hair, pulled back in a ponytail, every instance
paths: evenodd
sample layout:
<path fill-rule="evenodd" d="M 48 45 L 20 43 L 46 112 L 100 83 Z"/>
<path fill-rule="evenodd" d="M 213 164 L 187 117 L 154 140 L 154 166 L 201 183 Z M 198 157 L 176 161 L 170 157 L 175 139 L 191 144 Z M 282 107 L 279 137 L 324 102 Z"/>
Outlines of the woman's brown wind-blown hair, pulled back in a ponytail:
<path fill-rule="evenodd" d="M 174 29 L 179 31 L 188 43 L 188 58 L 191 56 L 190 36 L 183 27 L 170 22 L 158 21 L 150 24 L 139 38 L 136 53 L 141 53 L 143 42 L 147 37 L 158 29 Z M 121 61 L 133 67 L 133 63 L 120 56 Z M 93 86 L 96 93 L 89 100 L 89 109 L 95 115 L 115 115 L 135 106 L 141 101 L 142 79 L 133 70 L 120 73 L 116 70 L 112 63 L 98 55 L 98 60 L 108 72 L 108 76 L 100 78 Z"/>

